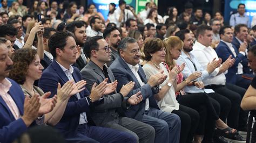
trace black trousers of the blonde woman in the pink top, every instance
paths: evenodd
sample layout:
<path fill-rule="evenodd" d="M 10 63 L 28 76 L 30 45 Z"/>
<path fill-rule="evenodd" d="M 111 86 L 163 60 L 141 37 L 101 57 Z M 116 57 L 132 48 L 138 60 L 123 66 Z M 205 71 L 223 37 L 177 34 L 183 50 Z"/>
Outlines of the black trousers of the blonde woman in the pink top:
<path fill-rule="evenodd" d="M 211 97 L 218 98 L 215 100 Z M 185 96 L 179 96 L 177 100 L 180 104 L 198 111 L 200 119 L 196 134 L 204 135 L 204 139 L 206 140 L 213 137 L 215 120 L 219 119 L 220 112 L 223 116 L 227 116 L 231 106 L 230 101 L 226 97 L 217 93 L 187 94 Z"/>

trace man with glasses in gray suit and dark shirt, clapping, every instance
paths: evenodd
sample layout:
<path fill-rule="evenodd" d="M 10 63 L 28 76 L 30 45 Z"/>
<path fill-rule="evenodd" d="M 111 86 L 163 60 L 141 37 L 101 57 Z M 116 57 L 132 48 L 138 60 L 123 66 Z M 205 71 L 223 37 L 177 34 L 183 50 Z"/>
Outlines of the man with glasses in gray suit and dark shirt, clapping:
<path fill-rule="evenodd" d="M 102 36 L 90 38 L 85 42 L 85 53 L 90 61 L 81 70 L 83 79 L 87 82 L 86 88 L 90 91 L 93 84 L 99 84 L 107 78 L 104 104 L 95 106 L 91 116 L 97 126 L 114 128 L 133 134 L 138 142 L 154 142 L 155 131 L 150 125 L 141 121 L 120 117 L 117 113 L 119 108 L 129 110 L 129 106 L 136 105 L 142 101 L 140 92 L 126 97 L 134 87 L 134 82 L 125 84 L 120 92 L 116 92 L 117 81 L 112 71 L 105 66 L 110 61 L 111 49 Z"/>

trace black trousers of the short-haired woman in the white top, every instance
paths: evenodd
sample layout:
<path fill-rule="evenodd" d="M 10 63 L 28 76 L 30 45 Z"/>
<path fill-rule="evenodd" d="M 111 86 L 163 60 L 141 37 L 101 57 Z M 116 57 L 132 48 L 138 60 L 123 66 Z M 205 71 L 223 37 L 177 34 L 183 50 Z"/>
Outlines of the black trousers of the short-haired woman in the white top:
<path fill-rule="evenodd" d="M 179 105 L 179 110 L 172 113 L 178 115 L 181 121 L 180 143 L 192 142 L 199 123 L 199 113 L 184 105 Z"/>

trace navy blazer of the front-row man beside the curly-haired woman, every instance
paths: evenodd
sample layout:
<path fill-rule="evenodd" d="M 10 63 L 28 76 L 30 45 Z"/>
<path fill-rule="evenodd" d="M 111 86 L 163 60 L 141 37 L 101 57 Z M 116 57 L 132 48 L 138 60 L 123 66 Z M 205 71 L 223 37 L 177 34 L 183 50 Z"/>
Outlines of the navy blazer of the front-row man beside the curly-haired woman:
<path fill-rule="evenodd" d="M 75 82 L 82 80 L 82 76 L 78 68 L 73 67 L 74 71 L 72 76 Z M 57 94 L 58 82 L 63 86 L 66 82 L 69 81 L 69 78 L 65 75 L 64 71 L 58 63 L 53 60 L 53 62 L 43 71 L 43 75 L 39 80 L 39 87 L 44 91 L 51 91 L 51 97 Z M 58 130 L 64 134 L 65 138 L 76 137 L 77 128 L 79 125 L 79 115 L 82 112 L 86 112 L 87 119 L 90 118 L 90 109 L 87 103 L 86 96 L 90 95 L 90 92 L 85 89 L 81 92 L 80 99 L 78 100 L 76 95 L 70 97 L 66 109 L 64 111 L 62 119 L 55 126 Z"/>

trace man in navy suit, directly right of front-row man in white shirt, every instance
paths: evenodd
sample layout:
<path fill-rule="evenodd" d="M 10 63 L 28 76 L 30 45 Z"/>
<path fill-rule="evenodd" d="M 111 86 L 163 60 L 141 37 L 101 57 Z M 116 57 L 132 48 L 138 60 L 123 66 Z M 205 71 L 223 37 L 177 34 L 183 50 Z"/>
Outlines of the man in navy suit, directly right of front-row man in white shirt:
<path fill-rule="evenodd" d="M 246 58 L 246 44 L 239 45 L 237 48 L 232 44 L 233 33 L 230 26 L 224 26 L 220 29 L 220 44 L 216 48 L 216 53 L 219 58 L 226 61 L 230 55 L 235 59 L 234 65 L 228 69 L 226 76 L 227 83 L 238 85 L 239 87 L 247 89 L 251 83 L 251 80 L 242 76 L 252 77 L 252 74 L 244 74 L 243 68 L 248 67 L 248 60 Z M 236 39 L 236 38 L 234 38 Z"/>

